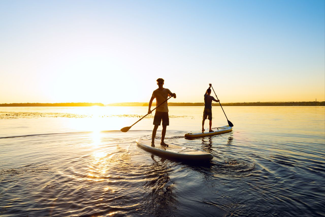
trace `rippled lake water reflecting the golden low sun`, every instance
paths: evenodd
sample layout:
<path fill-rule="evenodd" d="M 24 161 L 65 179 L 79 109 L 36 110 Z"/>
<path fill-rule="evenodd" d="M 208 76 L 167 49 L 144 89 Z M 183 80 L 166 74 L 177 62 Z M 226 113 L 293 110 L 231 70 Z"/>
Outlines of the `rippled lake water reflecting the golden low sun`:
<path fill-rule="evenodd" d="M 147 109 L 0 107 L 0 216 L 325 216 L 324 107 L 224 107 L 233 131 L 196 139 L 203 108 L 170 107 L 165 141 L 200 163 L 136 145 L 153 115 L 119 131 Z"/>

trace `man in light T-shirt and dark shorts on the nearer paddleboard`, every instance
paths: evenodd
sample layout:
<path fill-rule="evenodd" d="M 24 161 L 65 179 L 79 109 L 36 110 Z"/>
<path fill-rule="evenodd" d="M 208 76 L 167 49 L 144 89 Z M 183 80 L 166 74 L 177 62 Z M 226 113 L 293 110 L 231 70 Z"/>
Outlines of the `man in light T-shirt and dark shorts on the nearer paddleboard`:
<path fill-rule="evenodd" d="M 149 102 L 149 108 L 148 113 L 151 113 L 151 104 L 154 98 L 156 98 L 156 106 L 160 105 L 163 101 L 167 99 L 168 96 L 173 96 L 176 98 L 176 94 L 172 93 L 169 89 L 163 88 L 164 80 L 162 78 L 157 79 L 158 89 L 153 91 L 150 102 Z M 163 146 L 168 146 L 166 143 L 164 143 L 165 134 L 166 134 L 166 127 L 169 125 L 169 117 L 168 117 L 168 104 L 167 101 L 164 102 L 161 106 L 156 108 L 155 117 L 153 119 L 153 127 L 152 130 L 152 141 L 151 146 L 155 146 L 155 137 L 156 132 L 158 129 L 158 126 L 162 122 L 162 140 L 160 142 Z"/>

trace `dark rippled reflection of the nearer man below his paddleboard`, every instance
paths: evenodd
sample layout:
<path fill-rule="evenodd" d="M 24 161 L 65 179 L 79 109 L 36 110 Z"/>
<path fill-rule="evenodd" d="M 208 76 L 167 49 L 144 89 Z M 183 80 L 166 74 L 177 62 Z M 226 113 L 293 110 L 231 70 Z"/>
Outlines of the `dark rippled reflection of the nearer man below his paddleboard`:
<path fill-rule="evenodd" d="M 173 212 L 177 209 L 178 201 L 174 191 L 174 182 L 170 181 L 169 173 L 170 166 L 164 158 L 156 160 L 151 154 L 153 163 L 149 166 L 152 173 L 147 176 L 149 181 L 146 181 L 143 186 L 149 188 L 149 193 L 145 197 L 146 210 L 151 216 L 175 216 Z"/>

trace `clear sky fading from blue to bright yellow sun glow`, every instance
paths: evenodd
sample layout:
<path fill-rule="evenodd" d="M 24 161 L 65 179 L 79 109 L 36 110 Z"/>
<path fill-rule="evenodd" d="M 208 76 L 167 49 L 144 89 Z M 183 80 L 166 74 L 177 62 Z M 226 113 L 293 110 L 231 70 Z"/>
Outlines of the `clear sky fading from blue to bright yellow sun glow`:
<path fill-rule="evenodd" d="M 324 2 L 1 1 L 0 103 L 324 101 Z"/>

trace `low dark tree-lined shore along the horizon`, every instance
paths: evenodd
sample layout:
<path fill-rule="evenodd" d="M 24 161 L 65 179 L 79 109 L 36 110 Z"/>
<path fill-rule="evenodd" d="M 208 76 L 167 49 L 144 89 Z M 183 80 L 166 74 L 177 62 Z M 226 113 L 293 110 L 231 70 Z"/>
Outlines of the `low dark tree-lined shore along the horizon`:
<path fill-rule="evenodd" d="M 78 106 L 148 106 L 149 103 L 3 103 L 0 107 L 78 107 Z M 155 103 L 152 104 L 152 107 Z M 204 106 L 204 103 L 168 103 L 168 106 Z M 220 106 L 219 103 L 212 103 L 212 106 Z M 243 103 L 222 103 L 222 106 L 325 106 L 322 102 L 243 102 Z"/>

